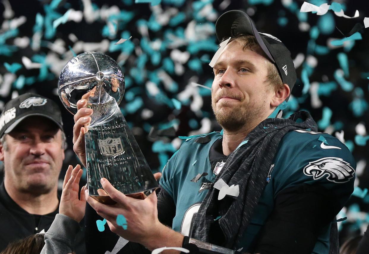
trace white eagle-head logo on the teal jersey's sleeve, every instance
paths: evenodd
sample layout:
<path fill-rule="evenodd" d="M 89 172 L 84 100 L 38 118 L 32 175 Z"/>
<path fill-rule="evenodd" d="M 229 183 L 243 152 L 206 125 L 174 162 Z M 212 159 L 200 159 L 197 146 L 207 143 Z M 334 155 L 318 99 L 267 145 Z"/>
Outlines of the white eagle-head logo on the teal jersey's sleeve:
<path fill-rule="evenodd" d="M 354 177 L 355 169 L 341 158 L 325 157 L 318 159 L 304 167 L 304 174 L 313 176 L 314 180 L 327 176 L 331 182 L 344 183 Z"/>

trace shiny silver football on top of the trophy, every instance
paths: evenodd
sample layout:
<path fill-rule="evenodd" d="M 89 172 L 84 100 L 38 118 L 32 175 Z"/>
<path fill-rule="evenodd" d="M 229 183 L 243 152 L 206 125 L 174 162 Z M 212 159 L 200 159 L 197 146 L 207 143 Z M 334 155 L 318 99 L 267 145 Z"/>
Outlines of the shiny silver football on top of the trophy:
<path fill-rule="evenodd" d="M 101 104 L 112 104 L 112 100 L 119 104 L 124 87 L 124 76 L 117 62 L 93 51 L 79 54 L 66 63 L 58 82 L 59 97 L 72 114 L 77 113 L 80 99 L 87 99 L 93 109 L 97 105 L 101 109 Z"/>

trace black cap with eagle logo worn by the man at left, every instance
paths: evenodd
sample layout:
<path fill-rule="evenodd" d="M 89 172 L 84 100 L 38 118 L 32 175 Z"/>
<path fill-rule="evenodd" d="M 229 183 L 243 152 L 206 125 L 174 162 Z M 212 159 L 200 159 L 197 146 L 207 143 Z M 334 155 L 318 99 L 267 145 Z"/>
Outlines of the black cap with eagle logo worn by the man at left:
<path fill-rule="evenodd" d="M 0 115 L 0 137 L 12 131 L 29 116 L 46 117 L 63 130 L 62 114 L 53 100 L 35 93 L 24 93 L 5 104 Z"/>

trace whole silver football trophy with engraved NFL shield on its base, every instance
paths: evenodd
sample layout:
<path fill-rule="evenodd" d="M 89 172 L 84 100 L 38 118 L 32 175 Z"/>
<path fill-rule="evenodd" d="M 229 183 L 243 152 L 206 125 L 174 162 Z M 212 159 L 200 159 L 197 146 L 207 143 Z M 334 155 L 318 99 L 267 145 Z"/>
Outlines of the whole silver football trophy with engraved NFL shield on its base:
<path fill-rule="evenodd" d="M 85 134 L 89 195 L 108 202 L 100 179 L 126 195 L 158 187 L 118 104 L 124 94 L 124 76 L 109 56 L 85 52 L 72 58 L 62 69 L 58 91 L 63 105 L 77 113 L 77 101 L 87 99 L 93 109 Z"/>

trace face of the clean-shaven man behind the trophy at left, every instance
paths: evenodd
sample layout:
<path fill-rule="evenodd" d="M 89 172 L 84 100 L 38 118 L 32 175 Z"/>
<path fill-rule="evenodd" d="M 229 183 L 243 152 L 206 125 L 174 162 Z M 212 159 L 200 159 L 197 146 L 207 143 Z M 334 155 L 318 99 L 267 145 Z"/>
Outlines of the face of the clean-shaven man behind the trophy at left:
<path fill-rule="evenodd" d="M 28 117 L 5 140 L 0 159 L 6 186 L 35 194 L 55 188 L 64 159 L 62 131 L 55 123 L 45 117 Z"/>

